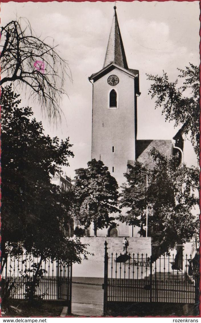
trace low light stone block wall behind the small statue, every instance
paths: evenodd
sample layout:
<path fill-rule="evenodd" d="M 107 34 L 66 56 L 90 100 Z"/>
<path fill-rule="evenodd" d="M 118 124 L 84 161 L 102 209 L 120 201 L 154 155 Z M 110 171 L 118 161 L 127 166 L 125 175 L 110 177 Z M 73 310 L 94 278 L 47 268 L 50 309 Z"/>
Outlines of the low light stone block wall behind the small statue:
<path fill-rule="evenodd" d="M 127 238 L 129 246 L 128 253 L 139 255 L 146 255 L 150 257 L 151 255 L 151 237 L 147 238 Z M 81 243 L 88 245 L 87 251 L 94 255 L 88 255 L 89 261 L 98 261 L 104 262 L 104 253 L 105 253 L 105 241 L 107 241 L 108 255 L 111 253 L 118 254 L 123 252 L 123 242 L 124 238 L 116 237 L 83 237 L 80 238 Z"/>

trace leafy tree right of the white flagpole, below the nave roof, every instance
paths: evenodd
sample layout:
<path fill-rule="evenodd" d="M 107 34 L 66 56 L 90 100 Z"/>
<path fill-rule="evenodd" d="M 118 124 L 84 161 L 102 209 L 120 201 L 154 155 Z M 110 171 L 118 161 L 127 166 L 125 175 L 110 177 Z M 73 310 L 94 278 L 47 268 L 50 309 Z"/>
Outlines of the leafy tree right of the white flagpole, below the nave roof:
<path fill-rule="evenodd" d="M 148 199 L 153 216 L 150 225 L 161 225 L 159 242 L 165 251 L 175 243 L 189 242 L 198 234 L 199 171 L 185 164 L 178 166 L 177 156 L 168 159 L 152 151 L 155 166 L 150 176 Z"/>

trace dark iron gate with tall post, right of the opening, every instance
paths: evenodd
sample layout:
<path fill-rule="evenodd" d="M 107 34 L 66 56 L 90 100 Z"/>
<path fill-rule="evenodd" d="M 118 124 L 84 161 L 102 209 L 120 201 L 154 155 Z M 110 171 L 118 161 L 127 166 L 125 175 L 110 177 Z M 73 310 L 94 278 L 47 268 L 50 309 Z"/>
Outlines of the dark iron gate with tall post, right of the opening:
<path fill-rule="evenodd" d="M 193 276 L 193 266 L 191 255 L 163 255 L 154 261 L 147 254 L 109 256 L 105 241 L 103 315 L 108 302 L 194 304 L 199 279 Z"/>

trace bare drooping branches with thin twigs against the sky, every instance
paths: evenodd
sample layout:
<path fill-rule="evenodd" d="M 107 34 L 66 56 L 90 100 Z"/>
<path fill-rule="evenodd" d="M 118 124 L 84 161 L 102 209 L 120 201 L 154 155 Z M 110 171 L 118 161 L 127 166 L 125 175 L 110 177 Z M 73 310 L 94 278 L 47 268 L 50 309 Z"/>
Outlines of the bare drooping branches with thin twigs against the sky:
<path fill-rule="evenodd" d="M 34 35 L 26 19 L 1 28 L 1 73 L 1 85 L 24 85 L 30 97 L 39 100 L 49 120 L 60 115 L 65 75 L 71 79 L 68 64 L 58 55 L 54 42 L 50 46 Z"/>

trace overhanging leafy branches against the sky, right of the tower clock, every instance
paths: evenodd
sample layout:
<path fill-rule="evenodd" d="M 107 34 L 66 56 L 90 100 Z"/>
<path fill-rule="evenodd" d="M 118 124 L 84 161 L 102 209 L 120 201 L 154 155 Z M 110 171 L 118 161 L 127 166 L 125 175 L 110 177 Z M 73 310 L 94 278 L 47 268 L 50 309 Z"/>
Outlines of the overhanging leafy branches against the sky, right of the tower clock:
<path fill-rule="evenodd" d="M 199 67 L 189 63 L 185 69 L 179 69 L 178 79 L 170 82 L 167 73 L 163 76 L 147 75 L 152 81 L 149 89 L 156 108 L 162 108 L 165 120 L 174 121 L 175 126 L 184 124 L 184 132 L 190 132 L 194 150 L 199 155 Z M 182 83 L 182 84 L 180 84 Z"/>

